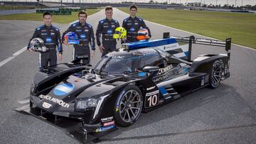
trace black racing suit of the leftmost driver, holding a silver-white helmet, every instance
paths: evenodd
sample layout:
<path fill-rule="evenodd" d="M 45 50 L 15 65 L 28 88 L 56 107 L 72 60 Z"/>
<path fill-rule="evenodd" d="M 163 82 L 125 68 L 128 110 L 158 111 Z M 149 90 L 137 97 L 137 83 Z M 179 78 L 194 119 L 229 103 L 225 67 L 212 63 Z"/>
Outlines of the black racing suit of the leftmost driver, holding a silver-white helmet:
<path fill-rule="evenodd" d="M 60 30 L 54 26 L 43 25 L 36 28 L 31 40 L 33 38 L 41 38 L 47 49 L 46 52 L 40 52 L 39 67 L 48 67 L 48 63 L 50 63 L 50 67 L 57 65 L 56 45 L 58 46 L 58 52 L 61 54 L 63 52 L 63 47 L 60 40 Z M 31 40 L 29 40 L 27 49 L 30 48 Z"/>

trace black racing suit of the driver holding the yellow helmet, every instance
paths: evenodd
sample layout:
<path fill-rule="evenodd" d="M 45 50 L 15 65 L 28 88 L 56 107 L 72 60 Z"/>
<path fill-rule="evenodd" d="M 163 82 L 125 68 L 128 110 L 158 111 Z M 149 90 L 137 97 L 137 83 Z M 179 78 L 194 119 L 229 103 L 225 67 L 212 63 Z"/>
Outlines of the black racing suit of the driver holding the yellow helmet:
<path fill-rule="evenodd" d="M 102 34 L 102 46 L 105 48 L 102 52 L 102 57 L 107 55 L 108 52 L 116 50 L 117 41 L 113 38 L 114 30 L 119 27 L 118 21 L 114 19 L 103 19 L 99 21 L 96 31 L 97 45 L 100 46 L 100 35 Z"/>

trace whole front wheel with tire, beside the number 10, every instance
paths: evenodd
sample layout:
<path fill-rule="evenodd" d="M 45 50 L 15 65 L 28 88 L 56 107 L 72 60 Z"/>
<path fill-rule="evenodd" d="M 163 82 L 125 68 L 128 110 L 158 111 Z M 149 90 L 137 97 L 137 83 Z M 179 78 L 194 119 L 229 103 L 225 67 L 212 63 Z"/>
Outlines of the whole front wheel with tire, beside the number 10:
<path fill-rule="evenodd" d="M 142 92 L 135 85 L 128 85 L 117 96 L 114 106 L 114 120 L 117 126 L 131 126 L 142 113 Z"/>

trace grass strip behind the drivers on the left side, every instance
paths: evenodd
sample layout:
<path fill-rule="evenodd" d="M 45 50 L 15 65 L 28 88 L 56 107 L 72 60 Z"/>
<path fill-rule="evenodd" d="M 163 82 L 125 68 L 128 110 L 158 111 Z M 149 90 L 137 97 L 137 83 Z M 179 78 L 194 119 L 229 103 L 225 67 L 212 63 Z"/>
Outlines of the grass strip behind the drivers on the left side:
<path fill-rule="evenodd" d="M 88 9 L 88 15 L 96 13 L 100 9 Z M 71 15 L 53 15 L 54 23 L 71 23 L 78 19 L 78 12 L 72 12 Z M 7 16 L 0 16 L 0 20 L 23 20 L 23 21 L 43 21 L 43 13 L 23 13 Z"/>

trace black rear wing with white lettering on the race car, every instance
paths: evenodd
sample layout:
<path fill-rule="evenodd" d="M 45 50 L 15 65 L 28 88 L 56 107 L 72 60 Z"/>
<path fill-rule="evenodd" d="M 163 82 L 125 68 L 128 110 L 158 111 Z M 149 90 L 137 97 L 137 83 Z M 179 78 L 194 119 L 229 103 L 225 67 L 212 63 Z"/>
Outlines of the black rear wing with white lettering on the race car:
<path fill-rule="evenodd" d="M 195 38 L 194 35 L 183 36 L 183 37 L 170 36 L 170 33 L 164 33 L 163 38 L 175 38 L 177 42 L 188 43 L 188 61 L 191 61 L 192 43 L 225 47 L 225 50 L 228 53 L 228 57 L 230 57 L 231 38 L 227 38 L 225 41 L 221 41 L 221 40 L 210 40 L 205 38 Z"/>

